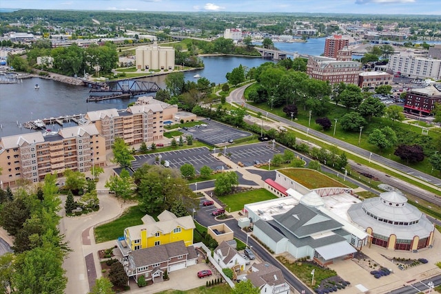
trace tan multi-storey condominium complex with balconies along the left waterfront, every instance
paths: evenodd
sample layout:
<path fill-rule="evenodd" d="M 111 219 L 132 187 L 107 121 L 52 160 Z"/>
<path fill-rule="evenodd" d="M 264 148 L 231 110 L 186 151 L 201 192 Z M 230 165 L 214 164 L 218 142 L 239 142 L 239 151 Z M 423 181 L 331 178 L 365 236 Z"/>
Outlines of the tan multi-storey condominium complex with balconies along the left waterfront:
<path fill-rule="evenodd" d="M 174 120 L 176 105 L 140 97 L 139 105 L 125 110 L 88 112 L 79 126 L 59 132 L 34 132 L 0 138 L 0 184 L 21 179 L 39 182 L 46 174 L 61 176 L 65 169 L 90 171 L 105 165 L 105 152 L 119 137 L 128 145 L 163 139 L 165 120 Z"/>

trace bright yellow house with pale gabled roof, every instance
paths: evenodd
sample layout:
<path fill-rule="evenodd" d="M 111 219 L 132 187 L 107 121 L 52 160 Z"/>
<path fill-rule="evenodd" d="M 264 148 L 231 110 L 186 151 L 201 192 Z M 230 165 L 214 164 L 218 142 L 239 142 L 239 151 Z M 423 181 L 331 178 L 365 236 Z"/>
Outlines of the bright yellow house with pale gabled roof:
<path fill-rule="evenodd" d="M 158 216 L 158 222 L 148 214 L 141 220 L 143 224 L 126 228 L 124 238 L 116 242 L 124 256 L 130 251 L 172 242 L 183 241 L 185 246 L 193 244 L 193 230 L 196 227 L 192 216 L 178 218 L 165 210 Z"/>

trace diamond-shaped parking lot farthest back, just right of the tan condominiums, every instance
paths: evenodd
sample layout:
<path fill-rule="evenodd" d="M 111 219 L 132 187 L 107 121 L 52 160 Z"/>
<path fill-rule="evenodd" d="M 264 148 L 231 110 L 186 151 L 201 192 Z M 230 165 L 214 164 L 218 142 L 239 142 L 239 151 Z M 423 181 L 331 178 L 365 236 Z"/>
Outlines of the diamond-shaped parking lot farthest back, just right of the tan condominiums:
<path fill-rule="evenodd" d="M 184 130 L 185 135 L 192 135 L 193 138 L 212 145 L 224 145 L 223 143 L 228 144 L 229 140 L 234 141 L 252 136 L 250 132 L 241 131 L 213 120 L 201 120 L 201 122 L 206 127 L 202 125 L 189 127 L 187 130 Z"/>

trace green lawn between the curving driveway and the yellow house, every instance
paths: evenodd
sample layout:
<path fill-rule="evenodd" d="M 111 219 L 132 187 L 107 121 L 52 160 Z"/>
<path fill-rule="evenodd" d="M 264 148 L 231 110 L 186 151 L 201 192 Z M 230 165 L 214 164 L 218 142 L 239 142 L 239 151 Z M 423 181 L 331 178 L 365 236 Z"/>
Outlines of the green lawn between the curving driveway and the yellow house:
<path fill-rule="evenodd" d="M 145 213 L 139 210 L 139 206 L 129 207 L 121 218 L 95 228 L 96 243 L 118 239 L 124 235 L 125 228 L 143 224 L 141 221 L 143 216 Z M 156 217 L 157 215 L 152 216 Z"/>

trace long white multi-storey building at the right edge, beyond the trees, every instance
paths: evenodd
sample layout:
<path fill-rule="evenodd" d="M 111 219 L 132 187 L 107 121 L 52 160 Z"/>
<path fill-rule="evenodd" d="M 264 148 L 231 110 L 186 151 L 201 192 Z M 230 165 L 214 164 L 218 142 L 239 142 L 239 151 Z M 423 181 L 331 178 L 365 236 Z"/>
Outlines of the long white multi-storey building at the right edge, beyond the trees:
<path fill-rule="evenodd" d="M 387 69 L 410 78 L 441 78 L 441 59 L 416 56 L 412 52 L 391 55 Z"/>

